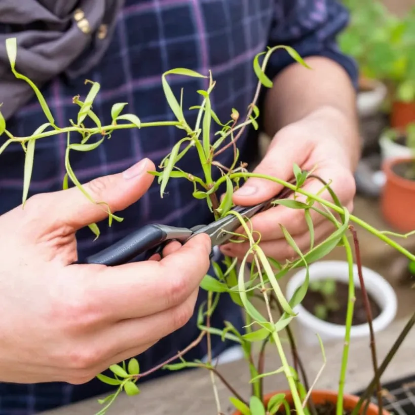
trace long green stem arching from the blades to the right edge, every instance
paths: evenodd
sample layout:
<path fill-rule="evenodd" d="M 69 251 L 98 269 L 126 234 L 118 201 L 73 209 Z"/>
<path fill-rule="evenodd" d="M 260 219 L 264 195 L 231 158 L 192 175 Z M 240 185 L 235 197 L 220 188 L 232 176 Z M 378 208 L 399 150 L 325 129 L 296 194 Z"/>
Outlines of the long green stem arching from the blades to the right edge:
<path fill-rule="evenodd" d="M 274 181 L 275 183 L 278 183 L 278 184 L 281 184 L 285 187 L 288 187 L 291 190 L 300 193 L 301 195 L 305 195 L 305 196 L 315 200 L 316 202 L 320 203 L 321 205 L 324 205 L 324 206 L 334 210 L 337 213 L 341 213 L 341 214 L 344 213 L 344 210 L 342 208 L 336 206 L 334 203 L 331 203 L 331 202 L 329 202 L 325 199 L 322 199 L 319 196 L 313 195 L 313 194 L 303 190 L 302 188 L 297 187 L 297 186 L 295 186 L 295 185 L 293 185 L 289 182 L 286 182 L 284 180 L 278 179 L 277 177 L 267 176 L 265 174 L 258 174 L 258 173 L 232 173 L 228 177 L 230 179 L 233 179 L 233 178 L 236 178 L 236 177 L 258 177 L 258 178 L 261 178 L 261 179 L 271 180 L 271 181 Z M 218 187 L 224 180 L 225 180 L 225 178 L 220 177 L 216 181 L 215 187 Z M 353 222 L 358 224 L 360 227 L 362 227 L 366 231 L 370 232 L 372 235 L 378 237 L 380 240 L 387 243 L 389 246 L 391 246 L 392 248 L 394 248 L 395 250 L 397 250 L 401 254 L 405 255 L 411 261 L 415 261 L 415 255 L 411 254 L 407 249 L 403 248 L 398 243 L 396 243 L 392 239 L 388 238 L 386 235 L 383 234 L 383 232 L 378 231 L 377 229 L 373 228 L 371 225 L 366 223 L 364 220 L 359 219 L 358 217 L 356 217 L 352 214 L 349 217 L 350 217 L 350 220 L 352 220 Z"/>

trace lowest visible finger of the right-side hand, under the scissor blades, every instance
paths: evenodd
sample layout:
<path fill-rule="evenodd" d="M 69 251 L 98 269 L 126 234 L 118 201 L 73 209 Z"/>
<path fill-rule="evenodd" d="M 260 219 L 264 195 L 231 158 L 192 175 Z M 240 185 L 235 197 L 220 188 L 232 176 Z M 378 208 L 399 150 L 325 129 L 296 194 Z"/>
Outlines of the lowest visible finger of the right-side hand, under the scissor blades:
<path fill-rule="evenodd" d="M 336 227 L 332 222 L 322 222 L 318 227 L 314 229 L 314 245 L 317 245 L 319 242 L 327 238 L 331 233 L 333 233 L 335 229 Z M 309 232 L 305 232 L 301 235 L 293 237 L 293 239 L 303 254 L 309 252 L 311 246 L 311 235 Z M 274 241 L 260 242 L 259 246 L 267 256 L 274 258 L 277 261 L 284 262 L 286 259 L 293 260 L 298 258 L 295 250 L 283 238 Z M 245 256 L 248 249 L 249 243 L 247 242 L 242 244 L 231 243 L 223 245 L 220 248 L 224 255 L 237 257 L 239 259 L 242 259 Z M 252 260 L 252 257 L 250 257 L 249 260 Z"/>

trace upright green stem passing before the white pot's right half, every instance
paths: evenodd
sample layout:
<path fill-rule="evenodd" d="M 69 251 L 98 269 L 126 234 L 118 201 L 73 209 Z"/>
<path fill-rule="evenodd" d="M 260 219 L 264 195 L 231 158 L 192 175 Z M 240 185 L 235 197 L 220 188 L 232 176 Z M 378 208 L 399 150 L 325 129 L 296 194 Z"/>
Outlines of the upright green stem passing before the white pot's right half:
<path fill-rule="evenodd" d="M 346 370 L 347 362 L 349 358 L 349 347 L 350 347 L 350 331 L 352 328 L 353 321 L 353 309 L 355 303 L 355 286 L 353 278 L 353 253 L 352 248 L 347 240 L 346 236 L 342 237 L 343 243 L 346 249 L 347 261 L 349 263 L 349 300 L 347 306 L 346 314 L 346 332 L 345 332 L 345 344 L 343 347 L 343 356 L 342 356 L 342 366 L 340 369 L 340 378 L 338 381 L 338 396 L 337 396 L 337 406 L 336 406 L 336 415 L 343 415 L 343 394 L 345 388 L 345 379 L 346 379 Z"/>

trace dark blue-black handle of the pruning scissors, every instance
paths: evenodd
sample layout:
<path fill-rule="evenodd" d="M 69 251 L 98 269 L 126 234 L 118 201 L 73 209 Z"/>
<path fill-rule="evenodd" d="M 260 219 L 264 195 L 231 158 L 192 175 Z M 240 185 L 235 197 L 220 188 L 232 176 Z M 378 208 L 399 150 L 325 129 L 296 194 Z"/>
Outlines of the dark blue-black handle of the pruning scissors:
<path fill-rule="evenodd" d="M 186 231 L 187 233 L 190 232 Z M 168 227 L 157 224 L 145 225 L 114 245 L 88 256 L 82 263 L 99 263 L 106 266 L 121 265 L 129 262 L 141 253 L 157 247 L 168 239 Z"/>

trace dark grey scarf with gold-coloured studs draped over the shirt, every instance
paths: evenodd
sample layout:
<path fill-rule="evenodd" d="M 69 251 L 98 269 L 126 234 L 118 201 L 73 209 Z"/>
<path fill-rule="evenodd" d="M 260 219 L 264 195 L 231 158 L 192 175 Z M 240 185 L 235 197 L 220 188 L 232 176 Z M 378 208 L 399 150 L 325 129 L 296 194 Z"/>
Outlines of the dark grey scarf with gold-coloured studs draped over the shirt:
<path fill-rule="evenodd" d="M 6 53 L 16 37 L 16 70 L 41 87 L 58 74 L 76 78 L 105 53 L 123 0 L 1 0 L 0 103 L 9 119 L 32 96 L 17 80 Z M 5 30 L 5 28 L 7 30 Z"/>

